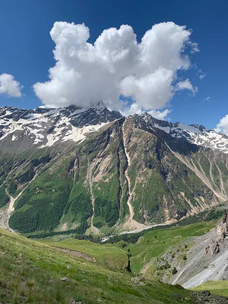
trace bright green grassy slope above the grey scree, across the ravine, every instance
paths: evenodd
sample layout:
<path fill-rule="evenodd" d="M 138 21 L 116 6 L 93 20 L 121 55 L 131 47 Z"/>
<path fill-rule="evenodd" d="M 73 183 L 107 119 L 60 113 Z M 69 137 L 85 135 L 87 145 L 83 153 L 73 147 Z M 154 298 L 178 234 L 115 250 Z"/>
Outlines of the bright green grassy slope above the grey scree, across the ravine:
<path fill-rule="evenodd" d="M 216 222 L 217 220 L 212 220 L 186 226 L 153 230 L 144 234 L 136 244 L 125 243 L 127 246 L 123 249 L 131 254 L 130 262 L 132 272 L 138 273 L 147 262 L 152 258 L 159 257 L 171 246 L 180 244 L 189 237 L 206 234 L 215 226 Z M 121 242 L 116 244 L 116 246 L 120 245 Z M 153 273 L 147 275 L 153 277 Z"/>

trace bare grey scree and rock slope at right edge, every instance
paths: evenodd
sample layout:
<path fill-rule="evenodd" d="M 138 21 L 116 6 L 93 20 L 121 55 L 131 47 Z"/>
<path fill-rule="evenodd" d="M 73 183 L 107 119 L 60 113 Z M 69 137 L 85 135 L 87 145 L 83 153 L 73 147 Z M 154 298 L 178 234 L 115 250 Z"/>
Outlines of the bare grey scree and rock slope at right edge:
<path fill-rule="evenodd" d="M 178 283 L 184 288 L 190 288 L 206 281 L 227 280 L 228 238 L 226 238 L 226 233 L 227 216 L 225 215 L 213 231 L 189 240 L 193 245 L 186 253 L 186 261 L 175 264 L 177 273 L 172 276 L 169 283 Z"/>

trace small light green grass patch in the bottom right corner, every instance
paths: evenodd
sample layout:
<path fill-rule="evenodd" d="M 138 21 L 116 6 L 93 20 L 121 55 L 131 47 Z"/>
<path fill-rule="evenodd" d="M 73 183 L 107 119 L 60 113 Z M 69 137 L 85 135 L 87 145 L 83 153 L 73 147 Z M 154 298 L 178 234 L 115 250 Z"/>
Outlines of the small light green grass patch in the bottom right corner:
<path fill-rule="evenodd" d="M 211 293 L 228 297 L 227 281 L 208 281 L 200 286 L 191 288 L 195 291 L 209 290 Z"/>

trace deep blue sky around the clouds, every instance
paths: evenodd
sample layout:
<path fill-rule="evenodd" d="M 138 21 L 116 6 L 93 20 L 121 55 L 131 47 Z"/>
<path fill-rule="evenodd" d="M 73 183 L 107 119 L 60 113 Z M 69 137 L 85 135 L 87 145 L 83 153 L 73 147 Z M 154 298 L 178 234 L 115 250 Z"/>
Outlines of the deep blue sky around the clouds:
<path fill-rule="evenodd" d="M 55 65 L 55 44 L 49 33 L 55 21 L 84 22 L 90 28 L 90 43 L 104 29 L 122 24 L 131 25 L 140 42 L 154 24 L 173 21 L 193 30 L 191 40 L 198 43 L 200 52 L 191 55 L 192 67 L 180 72 L 198 87 L 198 93 L 194 97 L 187 90 L 177 92 L 168 107 L 172 109 L 169 118 L 214 128 L 228 113 L 227 16 L 227 1 L 2 0 L 0 74 L 12 74 L 23 85 L 23 96 L 0 94 L 0 106 L 42 104 L 32 85 L 48 81 L 48 69 Z M 202 80 L 200 74 L 205 74 Z"/>

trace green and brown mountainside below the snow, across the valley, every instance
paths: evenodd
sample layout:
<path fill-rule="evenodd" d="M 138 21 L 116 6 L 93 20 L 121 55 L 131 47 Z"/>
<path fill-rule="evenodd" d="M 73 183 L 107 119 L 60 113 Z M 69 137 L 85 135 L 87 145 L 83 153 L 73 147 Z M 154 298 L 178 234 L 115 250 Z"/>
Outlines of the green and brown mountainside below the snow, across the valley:
<path fill-rule="evenodd" d="M 218 203 L 194 170 L 166 146 L 168 134 L 145 131 L 130 120 L 124 123 L 124 130 L 124 120 L 119 120 L 80 144 L 1 155 L 0 207 L 9 202 L 6 189 L 14 198 L 21 193 L 9 221 L 12 229 L 40 237 L 61 232 L 85 234 L 91 225 L 94 201 L 93 224 L 100 236 L 119 233 L 128 229 L 123 224 L 129 215 L 129 186 L 134 219 L 145 224 L 179 220 Z M 187 150 L 182 159 L 189 163 L 193 159 L 191 164 L 203 170 L 212 187 L 225 197 L 226 157 L 213 152 L 212 158 L 210 149 L 203 153 L 203 149 L 191 150 L 189 145 L 182 142 L 179 155 L 182 147 L 183 153 Z"/>

